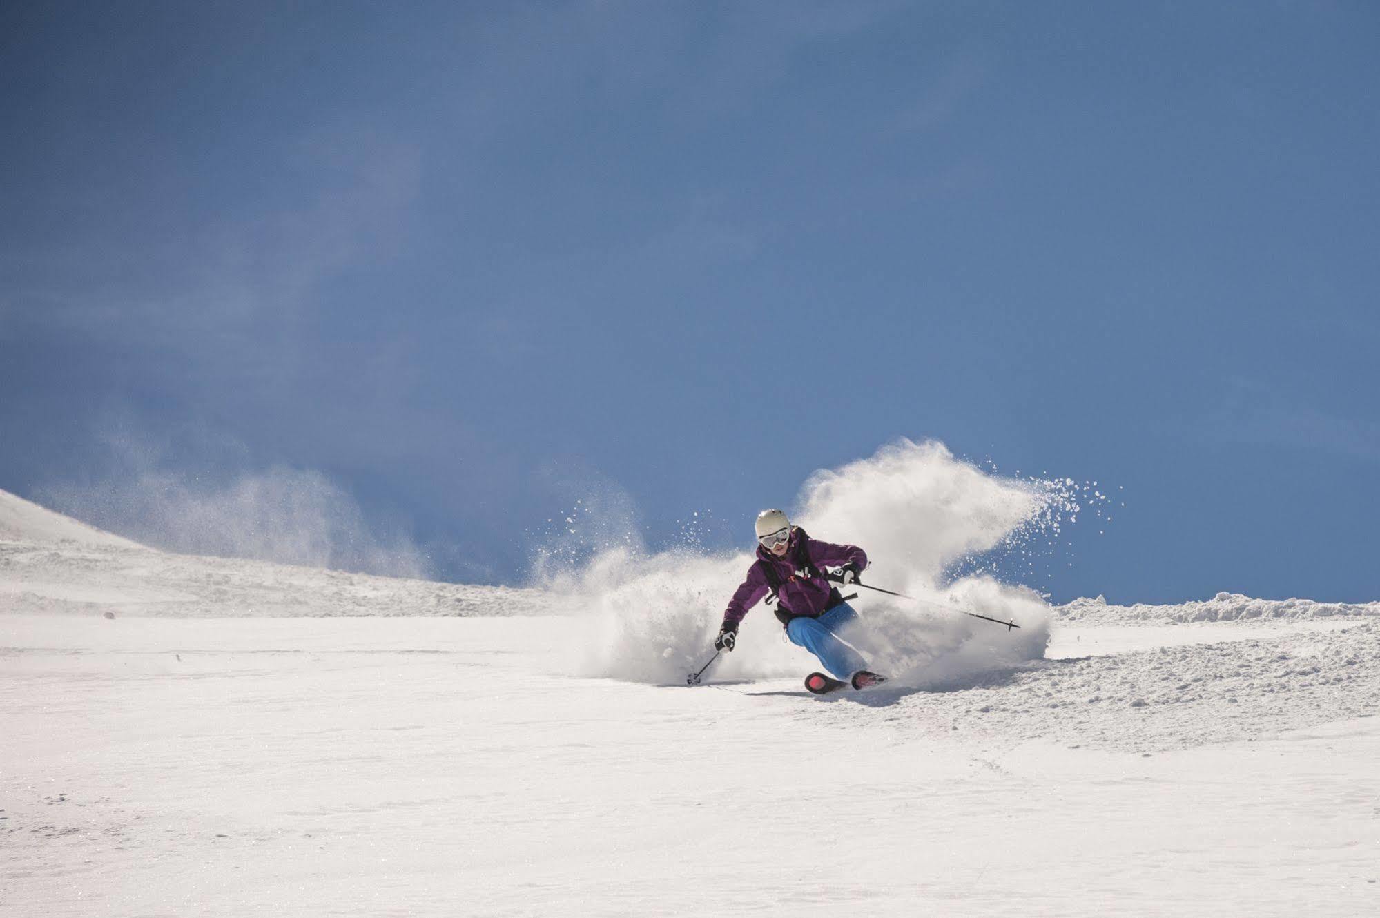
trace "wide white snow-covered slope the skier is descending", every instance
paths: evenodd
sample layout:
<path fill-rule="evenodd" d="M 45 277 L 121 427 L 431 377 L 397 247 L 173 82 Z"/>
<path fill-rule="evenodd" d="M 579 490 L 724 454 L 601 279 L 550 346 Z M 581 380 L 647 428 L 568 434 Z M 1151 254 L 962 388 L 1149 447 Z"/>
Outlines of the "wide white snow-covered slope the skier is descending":
<path fill-rule="evenodd" d="M 1079 600 L 1049 658 L 817 699 L 7 508 L 4 914 L 1380 912 L 1376 603 Z"/>

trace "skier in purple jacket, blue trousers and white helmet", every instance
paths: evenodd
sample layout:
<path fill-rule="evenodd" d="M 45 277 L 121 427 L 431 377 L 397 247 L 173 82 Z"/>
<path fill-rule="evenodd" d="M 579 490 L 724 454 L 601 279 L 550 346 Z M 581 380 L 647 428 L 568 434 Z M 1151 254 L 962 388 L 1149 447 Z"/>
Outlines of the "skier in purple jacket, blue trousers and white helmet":
<path fill-rule="evenodd" d="M 715 649 L 733 650 L 748 609 L 770 592 L 777 603 L 776 616 L 785 625 L 791 642 L 817 656 L 824 668 L 838 676 L 829 679 L 821 672 L 811 672 L 805 679 L 806 689 L 824 694 L 845 685 L 865 689 L 885 682 L 885 676 L 867 670 L 867 661 L 857 650 L 839 639 L 838 631 L 856 623 L 857 613 L 829 583 L 860 583 L 867 552 L 857 545 L 834 545 L 810 538 L 778 509 L 758 514 L 756 531 L 758 558 L 729 600 Z M 822 567 L 839 567 L 839 573 L 825 577 Z"/>

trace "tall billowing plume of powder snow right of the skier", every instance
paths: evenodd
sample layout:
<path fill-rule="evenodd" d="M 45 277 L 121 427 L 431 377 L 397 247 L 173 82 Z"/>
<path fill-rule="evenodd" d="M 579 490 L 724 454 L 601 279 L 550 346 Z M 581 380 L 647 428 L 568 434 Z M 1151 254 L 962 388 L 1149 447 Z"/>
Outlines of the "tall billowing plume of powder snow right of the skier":
<path fill-rule="evenodd" d="M 1050 614 L 1038 594 L 987 576 L 945 584 L 944 572 L 1039 525 L 1050 494 L 1046 483 L 959 461 L 943 443 L 901 439 L 869 458 L 816 472 L 803 489 L 799 522 L 816 538 L 861 545 L 871 559 L 864 583 L 912 596 L 858 591 L 853 605 L 862 623 L 842 636 L 869 665 L 903 685 L 955 685 L 1043 656 Z"/>

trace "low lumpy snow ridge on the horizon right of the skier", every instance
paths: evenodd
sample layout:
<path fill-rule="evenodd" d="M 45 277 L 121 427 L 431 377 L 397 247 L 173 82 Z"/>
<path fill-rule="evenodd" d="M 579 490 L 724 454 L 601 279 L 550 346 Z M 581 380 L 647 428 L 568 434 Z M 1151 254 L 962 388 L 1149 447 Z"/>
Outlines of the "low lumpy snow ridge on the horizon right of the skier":
<path fill-rule="evenodd" d="M 1254 621 L 1328 618 L 1334 616 L 1380 616 L 1380 602 L 1314 602 L 1312 599 L 1253 599 L 1235 592 L 1220 592 L 1212 599 L 1180 605 L 1114 606 L 1105 599 L 1075 599 L 1056 606 L 1058 621 L 1082 624 L 1126 624 L 1167 621 Z"/>

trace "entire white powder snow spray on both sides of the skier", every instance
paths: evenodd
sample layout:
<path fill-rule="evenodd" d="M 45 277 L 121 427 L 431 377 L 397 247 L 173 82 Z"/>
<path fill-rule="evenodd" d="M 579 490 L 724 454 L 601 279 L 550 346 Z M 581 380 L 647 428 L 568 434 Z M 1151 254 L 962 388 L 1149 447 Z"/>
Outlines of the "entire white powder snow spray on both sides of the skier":
<path fill-rule="evenodd" d="M 1029 541 L 1032 530 L 1060 520 L 1068 501 L 1057 479 L 999 476 L 956 458 L 943 443 L 901 439 L 868 458 L 816 472 L 800 490 L 792 520 L 814 538 L 861 545 L 872 562 L 864 581 L 919 600 L 872 594 L 853 600 L 861 625 L 843 636 L 872 668 L 893 683 L 958 687 L 1041 658 L 1050 610 L 1027 587 L 987 573 L 951 578 L 947 572 L 983 552 Z M 752 562 L 751 549 L 646 554 L 615 543 L 575 570 L 548 573 L 544 585 L 564 592 L 588 616 L 581 674 L 684 685 L 686 672 L 702 665 L 724 606 Z M 1021 627 L 994 628 L 934 606 Z M 737 649 L 707 678 L 793 678 L 817 665 L 759 605 L 744 620 Z"/>

